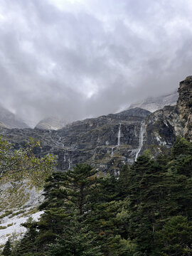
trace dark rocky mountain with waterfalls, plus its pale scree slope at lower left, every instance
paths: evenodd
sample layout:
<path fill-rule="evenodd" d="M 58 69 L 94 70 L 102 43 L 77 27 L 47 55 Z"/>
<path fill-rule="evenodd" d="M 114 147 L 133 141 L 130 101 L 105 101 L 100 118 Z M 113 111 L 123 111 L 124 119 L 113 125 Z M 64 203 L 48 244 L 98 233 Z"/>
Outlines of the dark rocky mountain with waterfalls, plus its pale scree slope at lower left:
<path fill-rule="evenodd" d="M 169 154 L 177 136 L 192 142 L 192 76 L 180 82 L 178 94 L 176 105 L 153 113 L 136 107 L 73 122 L 58 130 L 0 126 L 0 133 L 15 149 L 25 146 L 29 137 L 40 140 L 42 147 L 34 153 L 38 156 L 56 154 L 59 170 L 72 169 L 84 162 L 98 171 L 118 175 L 124 164 L 133 164 L 146 149 L 156 157 L 161 152 Z M 41 213 L 36 213 L 36 206 L 43 200 L 40 192 L 36 193 L 30 186 L 25 188 L 22 183 L 16 193 L 10 193 L 9 185 L 4 186 L 0 205 L 4 209 L 5 217 L 1 221 L 5 229 L 0 243 L 18 228 L 16 223 L 26 221 L 32 213 L 37 218 Z M 11 203 L 8 203 L 10 197 Z"/>

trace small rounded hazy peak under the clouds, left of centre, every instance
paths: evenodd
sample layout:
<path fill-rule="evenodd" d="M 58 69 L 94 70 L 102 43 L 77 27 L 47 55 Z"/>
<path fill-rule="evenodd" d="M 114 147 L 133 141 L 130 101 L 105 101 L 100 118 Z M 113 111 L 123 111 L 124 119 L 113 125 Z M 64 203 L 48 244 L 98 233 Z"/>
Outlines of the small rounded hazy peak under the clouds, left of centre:
<path fill-rule="evenodd" d="M 58 117 L 47 117 L 36 125 L 38 129 L 48 129 L 48 130 L 57 130 L 65 127 L 68 124 L 66 120 L 60 119 Z"/>

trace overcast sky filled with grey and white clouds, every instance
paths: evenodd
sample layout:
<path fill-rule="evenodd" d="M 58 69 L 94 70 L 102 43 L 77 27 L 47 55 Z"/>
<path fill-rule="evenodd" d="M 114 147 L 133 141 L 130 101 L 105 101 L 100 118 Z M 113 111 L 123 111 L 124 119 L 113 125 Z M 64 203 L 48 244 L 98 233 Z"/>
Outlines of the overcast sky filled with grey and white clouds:
<path fill-rule="evenodd" d="M 191 0 L 0 0 L 0 104 L 97 117 L 192 75 Z"/>

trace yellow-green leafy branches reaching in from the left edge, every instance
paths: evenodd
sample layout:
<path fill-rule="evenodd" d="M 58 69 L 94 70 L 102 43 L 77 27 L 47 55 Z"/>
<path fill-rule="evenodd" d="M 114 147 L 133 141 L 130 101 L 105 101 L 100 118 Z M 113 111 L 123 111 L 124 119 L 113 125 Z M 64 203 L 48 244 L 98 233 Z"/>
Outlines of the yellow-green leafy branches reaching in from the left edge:
<path fill-rule="evenodd" d="M 14 146 L 0 137 L 0 178 L 6 178 L 15 185 L 17 181 L 29 178 L 35 186 L 42 186 L 43 181 L 55 166 L 55 156 L 37 157 L 33 151 L 40 146 L 30 138 L 25 148 L 14 150 Z"/>

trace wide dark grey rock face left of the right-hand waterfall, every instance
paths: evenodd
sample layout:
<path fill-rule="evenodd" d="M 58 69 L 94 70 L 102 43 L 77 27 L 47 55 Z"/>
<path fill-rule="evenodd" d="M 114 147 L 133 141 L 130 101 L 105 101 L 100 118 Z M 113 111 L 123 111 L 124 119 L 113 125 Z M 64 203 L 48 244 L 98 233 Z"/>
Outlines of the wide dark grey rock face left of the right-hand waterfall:
<path fill-rule="evenodd" d="M 118 114 L 73 122 L 59 130 L 1 129 L 1 134 L 16 148 L 28 137 L 42 142 L 41 152 L 58 155 L 58 169 L 66 170 L 86 162 L 101 171 L 119 171 L 123 164 L 132 164 L 139 150 L 142 121 L 150 114 L 135 108 Z"/>

